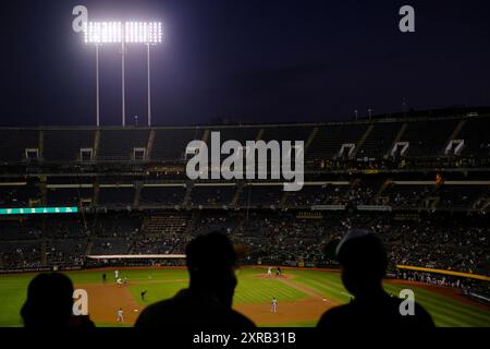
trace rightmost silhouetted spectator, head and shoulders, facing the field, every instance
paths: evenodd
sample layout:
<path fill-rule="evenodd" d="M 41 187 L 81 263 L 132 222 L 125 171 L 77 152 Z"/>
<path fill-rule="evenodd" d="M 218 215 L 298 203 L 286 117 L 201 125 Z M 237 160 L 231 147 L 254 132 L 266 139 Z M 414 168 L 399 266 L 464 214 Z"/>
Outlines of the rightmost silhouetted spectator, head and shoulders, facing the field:
<path fill-rule="evenodd" d="M 366 230 L 353 229 L 336 248 L 342 282 L 354 296 L 348 304 L 328 310 L 320 328 L 430 328 L 432 317 L 415 303 L 414 315 L 402 315 L 404 299 L 391 297 L 382 287 L 388 258 L 381 241 Z M 415 293 L 415 299 L 417 294 Z"/>

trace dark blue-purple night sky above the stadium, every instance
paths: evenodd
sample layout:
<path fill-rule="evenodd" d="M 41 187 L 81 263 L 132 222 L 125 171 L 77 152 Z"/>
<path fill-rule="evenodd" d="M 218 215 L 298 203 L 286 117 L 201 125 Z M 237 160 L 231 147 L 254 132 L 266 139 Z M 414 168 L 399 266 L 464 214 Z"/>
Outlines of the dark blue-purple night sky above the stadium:
<path fill-rule="evenodd" d="M 383 4 L 382 4 L 383 3 Z M 2 1 L 0 124 L 94 124 L 95 49 L 72 28 L 89 19 L 161 20 L 152 49 L 154 124 L 347 120 L 409 108 L 490 105 L 485 1 Z M 399 31 L 403 4 L 416 33 Z M 146 122 L 144 46 L 126 57 L 127 118 Z M 119 124 L 121 56 L 100 53 L 102 124 Z M 130 121 L 128 121 L 130 123 Z"/>

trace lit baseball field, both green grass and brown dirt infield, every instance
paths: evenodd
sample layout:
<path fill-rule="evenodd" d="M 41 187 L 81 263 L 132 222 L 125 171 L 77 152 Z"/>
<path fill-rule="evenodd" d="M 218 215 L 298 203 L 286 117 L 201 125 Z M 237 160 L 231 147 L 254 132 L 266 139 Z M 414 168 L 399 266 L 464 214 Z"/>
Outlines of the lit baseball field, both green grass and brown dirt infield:
<path fill-rule="evenodd" d="M 234 308 L 259 326 L 315 326 L 327 309 L 351 299 L 336 272 L 285 269 L 277 277 L 266 270 L 250 267 L 236 272 Z M 102 282 L 105 273 L 107 281 Z M 172 297 L 188 280 L 183 268 L 120 268 L 119 274 L 127 278 L 126 285 L 117 285 L 113 269 L 66 273 L 75 288 L 87 291 L 89 315 L 97 326 L 131 326 L 146 305 Z M 34 275 L 0 275 L 0 326 L 22 326 L 19 312 Z M 467 300 L 456 290 L 401 280 L 388 280 L 384 287 L 395 296 L 412 289 L 438 326 L 490 327 L 490 308 Z M 273 297 L 278 299 L 277 313 L 270 309 Z M 124 311 L 124 324 L 117 323 L 119 308 Z"/>

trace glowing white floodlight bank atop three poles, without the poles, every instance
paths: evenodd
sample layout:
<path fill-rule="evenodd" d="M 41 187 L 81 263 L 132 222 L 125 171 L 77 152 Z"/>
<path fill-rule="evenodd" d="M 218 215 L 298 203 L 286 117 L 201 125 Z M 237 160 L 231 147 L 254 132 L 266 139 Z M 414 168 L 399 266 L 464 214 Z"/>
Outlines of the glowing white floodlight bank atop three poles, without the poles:
<path fill-rule="evenodd" d="M 161 22 L 85 22 L 85 44 L 136 43 L 156 45 L 162 40 Z"/>

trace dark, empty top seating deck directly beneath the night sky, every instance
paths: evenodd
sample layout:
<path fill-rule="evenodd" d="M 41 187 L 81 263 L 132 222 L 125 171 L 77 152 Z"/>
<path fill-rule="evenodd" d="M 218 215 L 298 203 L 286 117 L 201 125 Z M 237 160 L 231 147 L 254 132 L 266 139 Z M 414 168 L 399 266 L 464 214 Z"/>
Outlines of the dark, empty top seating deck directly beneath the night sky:
<path fill-rule="evenodd" d="M 3 165 L 70 163 L 180 163 L 193 140 L 305 142 L 305 159 L 490 157 L 490 115 L 362 120 L 338 123 L 203 127 L 1 128 Z"/>

